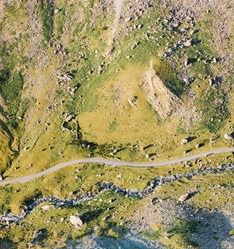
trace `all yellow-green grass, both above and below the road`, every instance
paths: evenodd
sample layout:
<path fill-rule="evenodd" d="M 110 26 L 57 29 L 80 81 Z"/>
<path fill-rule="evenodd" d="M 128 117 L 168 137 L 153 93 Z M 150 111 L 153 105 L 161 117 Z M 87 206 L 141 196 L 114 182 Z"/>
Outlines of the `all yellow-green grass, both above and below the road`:
<path fill-rule="evenodd" d="M 112 34 L 115 13 L 111 1 L 104 2 L 13 0 L 0 5 L 3 177 L 30 175 L 81 157 L 161 161 L 233 146 L 231 139 L 224 139 L 224 134 L 233 133 L 231 75 L 227 63 L 216 60 L 221 55 L 213 46 L 212 11 L 182 18 L 171 28 L 169 16 L 174 18 L 176 13 L 162 1 L 154 1 L 137 17 L 128 13 L 131 8 L 126 3 Z M 167 56 L 170 49 L 173 54 Z M 162 96 L 169 93 L 181 103 L 181 109 L 166 118 L 153 108 L 142 87 L 151 66 L 165 86 Z M 185 76 L 192 81 L 188 83 Z M 212 85 L 214 77 L 221 82 Z M 156 95 L 151 97 L 157 102 Z M 164 102 L 158 103 L 161 109 Z M 184 138 L 189 139 L 182 145 Z M 33 182 L 1 188 L 0 213 L 20 213 L 35 196 L 72 198 L 96 193 L 101 181 L 143 189 L 157 176 L 233 163 L 232 157 L 209 156 L 159 168 L 79 164 Z M 222 208 L 232 203 L 232 178 L 232 173 L 201 175 L 163 185 L 156 193 L 161 199 L 177 200 L 185 192 L 198 190 L 189 200 L 191 205 Z M 44 212 L 38 207 L 21 225 L 2 229 L 0 237 L 9 237 L 19 248 L 25 248 L 35 231 L 43 235 L 41 244 L 35 243 L 38 248 L 47 243 L 60 246 L 66 239 L 92 232 L 118 237 L 123 231 L 121 221 L 140 205 L 144 200 L 105 192 L 72 208 L 52 207 Z M 69 223 L 70 215 L 88 212 L 92 219 L 81 229 Z M 174 224 L 175 244 L 185 243 L 177 248 L 188 248 L 188 233 L 194 228 L 199 229 L 199 224 Z M 145 236 L 157 240 L 161 230 Z"/>

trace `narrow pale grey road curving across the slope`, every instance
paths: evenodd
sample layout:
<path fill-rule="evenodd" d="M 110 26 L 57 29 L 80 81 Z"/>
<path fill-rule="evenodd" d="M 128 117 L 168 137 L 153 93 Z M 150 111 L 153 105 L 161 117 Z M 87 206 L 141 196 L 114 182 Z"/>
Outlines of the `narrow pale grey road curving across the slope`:
<path fill-rule="evenodd" d="M 162 162 L 149 162 L 149 163 L 125 162 L 125 161 L 114 160 L 114 159 L 106 159 L 102 157 L 77 159 L 77 160 L 59 163 L 49 169 L 43 170 L 39 173 L 35 173 L 32 175 L 5 179 L 0 182 L 0 186 L 5 186 L 7 184 L 14 184 L 14 183 L 29 182 L 39 177 L 46 176 L 50 173 L 58 171 L 62 168 L 65 168 L 65 167 L 68 167 L 74 164 L 78 164 L 78 163 L 102 163 L 108 166 L 128 166 L 128 167 L 159 167 L 159 166 L 167 166 L 167 165 L 172 165 L 172 164 L 177 164 L 177 163 L 182 163 L 182 162 L 188 162 L 188 161 L 195 160 L 201 157 L 206 157 L 206 156 L 215 155 L 215 154 L 222 154 L 222 153 L 227 153 L 227 152 L 234 152 L 234 147 L 214 149 L 214 150 L 202 152 L 200 154 L 196 154 L 192 156 L 186 156 L 186 157 L 171 159 L 171 160 L 162 161 Z"/>

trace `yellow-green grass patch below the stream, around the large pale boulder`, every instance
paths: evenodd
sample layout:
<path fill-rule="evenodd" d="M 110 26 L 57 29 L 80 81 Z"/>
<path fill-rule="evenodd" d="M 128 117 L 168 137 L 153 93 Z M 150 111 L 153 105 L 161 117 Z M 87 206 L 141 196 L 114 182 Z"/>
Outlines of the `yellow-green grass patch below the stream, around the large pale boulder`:
<path fill-rule="evenodd" d="M 9 238 L 17 244 L 17 248 L 24 248 L 35 236 L 35 231 L 41 229 L 46 229 L 48 237 L 39 242 L 40 246 L 62 246 L 67 239 L 78 239 L 93 232 L 97 235 L 119 237 L 124 232 L 119 220 L 130 212 L 130 207 L 135 203 L 135 200 L 111 192 L 71 208 L 50 206 L 49 210 L 43 211 L 43 206 L 46 205 L 44 203 L 20 226 L 13 225 L 8 232 L 2 231 L 0 236 Z M 85 224 L 79 229 L 74 228 L 69 222 L 71 215 L 79 215 Z M 62 239 L 58 240 L 58 236 Z"/>

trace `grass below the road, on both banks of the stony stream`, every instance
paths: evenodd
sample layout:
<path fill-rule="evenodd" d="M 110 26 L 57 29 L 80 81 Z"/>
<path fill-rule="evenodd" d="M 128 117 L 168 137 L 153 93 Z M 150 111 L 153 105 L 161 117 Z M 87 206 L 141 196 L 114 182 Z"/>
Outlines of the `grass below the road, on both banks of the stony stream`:
<path fill-rule="evenodd" d="M 210 165 L 210 162 L 207 163 Z M 2 203 L 1 212 L 3 213 L 8 210 L 15 212 L 19 210 L 19 207 L 22 207 L 25 202 L 30 201 L 31 198 L 36 195 L 54 195 L 61 198 L 72 198 L 73 193 L 74 195 L 79 195 L 88 191 L 95 192 L 97 190 L 96 184 L 100 181 L 115 182 L 120 186 L 141 189 L 147 185 L 148 180 L 156 176 L 167 175 L 169 171 L 174 173 L 189 172 L 193 167 L 184 168 L 183 165 L 176 165 L 163 168 L 133 169 L 127 167 L 112 168 L 100 164 L 76 165 L 72 166 L 71 169 L 63 169 L 34 182 L 15 184 L 2 188 L 0 195 Z M 116 176 L 120 173 L 123 177 L 117 179 Z M 137 178 L 140 175 L 141 179 L 138 180 Z M 78 181 L 78 178 L 75 179 L 75 176 L 80 180 Z M 203 177 L 207 179 L 207 175 Z M 212 182 L 216 184 L 219 178 L 215 175 L 213 175 L 213 178 L 214 180 L 212 180 Z M 224 183 L 229 181 L 229 179 L 226 179 L 227 177 L 224 176 Z M 193 179 L 184 185 L 191 189 L 191 185 L 198 185 L 203 182 L 203 180 L 200 180 L 198 183 L 196 179 Z M 173 196 L 175 192 L 172 191 L 172 189 L 178 189 L 177 185 L 181 185 L 182 193 L 186 191 L 184 185 L 182 185 L 182 181 L 177 182 L 175 185 L 173 184 L 174 183 L 165 185 L 160 189 L 163 190 L 167 187 Z M 210 185 L 210 182 L 208 184 Z M 221 182 L 219 182 L 219 184 L 221 184 Z M 208 189 L 208 187 L 205 186 L 205 189 Z M 168 197 L 164 194 L 163 196 L 160 195 L 160 198 L 164 199 Z M 199 198 L 199 195 L 195 198 Z M 205 201 L 202 201 L 202 203 L 204 202 Z M 21 226 L 13 225 L 9 229 L 1 230 L 0 238 L 7 235 L 14 242 L 18 242 L 19 245 L 25 245 L 28 240 L 32 239 L 32 231 L 43 228 L 47 228 L 50 234 L 49 240 L 45 241 L 46 245 L 56 243 L 58 234 L 60 234 L 61 238 L 67 238 L 67 235 L 70 234 L 74 239 L 77 237 L 81 238 L 92 232 L 95 232 L 97 235 L 118 237 L 124 232 L 121 223 L 125 222 L 126 217 L 128 217 L 128 212 L 136 209 L 139 204 L 139 200 L 126 198 L 107 191 L 103 192 L 93 201 L 79 204 L 73 208 L 55 208 L 45 213 L 38 208 L 26 218 Z M 88 217 L 86 225 L 81 229 L 74 229 L 74 227 L 69 224 L 69 216 L 84 214 Z M 107 217 L 110 218 L 106 219 Z M 64 220 L 60 221 L 61 218 L 64 218 Z M 103 221 L 103 219 L 105 221 Z M 50 223 L 47 223 L 48 220 L 50 220 Z M 171 234 L 181 235 L 183 243 L 191 245 L 192 242 L 190 241 L 189 234 L 199 232 L 202 226 L 203 224 L 196 221 L 178 221 L 173 225 Z M 157 239 L 160 234 L 158 231 L 151 231 L 147 233 L 146 236 L 147 235 L 151 239 Z"/>

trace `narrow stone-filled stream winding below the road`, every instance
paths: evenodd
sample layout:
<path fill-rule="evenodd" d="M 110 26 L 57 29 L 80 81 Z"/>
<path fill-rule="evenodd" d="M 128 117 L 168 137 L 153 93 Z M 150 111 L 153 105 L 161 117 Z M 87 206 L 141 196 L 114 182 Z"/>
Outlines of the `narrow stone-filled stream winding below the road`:
<path fill-rule="evenodd" d="M 115 193 L 118 193 L 123 196 L 142 199 L 151 194 L 157 187 L 160 187 L 164 184 L 168 184 L 174 181 L 181 180 L 182 178 L 191 180 L 194 176 L 198 175 L 219 174 L 225 171 L 233 171 L 233 170 L 234 170 L 234 164 L 223 164 L 217 168 L 198 168 L 189 173 L 181 173 L 181 174 L 177 173 L 173 175 L 167 175 L 164 177 L 156 177 L 151 181 L 149 181 L 148 186 L 142 190 L 127 189 L 115 185 L 114 183 L 100 182 L 98 184 L 99 192 L 96 194 L 89 192 L 83 196 L 78 195 L 72 199 L 69 198 L 60 199 L 54 196 L 37 197 L 33 198 L 30 204 L 24 206 L 24 209 L 19 215 L 15 215 L 13 213 L 4 213 L 3 215 L 0 215 L 0 228 L 3 228 L 4 226 L 8 226 L 13 223 L 21 222 L 27 215 L 32 213 L 34 209 L 36 209 L 39 205 L 45 202 L 49 202 L 53 204 L 55 207 L 72 207 L 76 206 L 81 202 L 94 199 L 103 191 L 114 191 Z"/>

